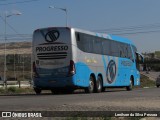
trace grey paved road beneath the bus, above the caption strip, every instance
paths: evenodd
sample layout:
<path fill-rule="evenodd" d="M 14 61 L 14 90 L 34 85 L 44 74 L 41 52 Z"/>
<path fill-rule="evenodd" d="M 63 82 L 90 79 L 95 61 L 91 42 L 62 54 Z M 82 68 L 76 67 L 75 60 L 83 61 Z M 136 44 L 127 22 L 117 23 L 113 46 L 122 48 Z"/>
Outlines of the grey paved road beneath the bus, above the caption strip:
<path fill-rule="evenodd" d="M 111 89 L 103 93 L 69 95 L 1 95 L 0 111 L 140 110 L 160 111 L 160 89 Z"/>

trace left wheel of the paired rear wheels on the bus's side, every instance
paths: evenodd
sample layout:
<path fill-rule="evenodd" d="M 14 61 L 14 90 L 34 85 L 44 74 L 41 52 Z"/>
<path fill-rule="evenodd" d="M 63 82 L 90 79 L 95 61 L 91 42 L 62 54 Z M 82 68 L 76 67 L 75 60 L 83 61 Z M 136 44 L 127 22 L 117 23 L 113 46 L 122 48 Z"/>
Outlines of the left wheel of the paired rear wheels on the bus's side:
<path fill-rule="evenodd" d="M 94 78 L 92 76 L 90 76 L 90 80 L 89 80 L 89 86 L 87 88 L 85 88 L 85 92 L 86 93 L 93 93 L 94 92 Z"/>

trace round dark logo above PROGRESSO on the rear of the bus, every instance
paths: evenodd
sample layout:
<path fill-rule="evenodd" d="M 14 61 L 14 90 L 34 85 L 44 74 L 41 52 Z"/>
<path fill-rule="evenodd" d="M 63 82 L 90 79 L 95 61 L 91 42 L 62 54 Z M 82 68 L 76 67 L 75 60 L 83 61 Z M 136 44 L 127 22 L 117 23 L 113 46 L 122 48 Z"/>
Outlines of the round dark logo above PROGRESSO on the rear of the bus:
<path fill-rule="evenodd" d="M 59 31 L 57 30 L 52 30 L 49 31 L 46 35 L 45 35 L 45 40 L 49 43 L 56 41 L 59 38 Z"/>

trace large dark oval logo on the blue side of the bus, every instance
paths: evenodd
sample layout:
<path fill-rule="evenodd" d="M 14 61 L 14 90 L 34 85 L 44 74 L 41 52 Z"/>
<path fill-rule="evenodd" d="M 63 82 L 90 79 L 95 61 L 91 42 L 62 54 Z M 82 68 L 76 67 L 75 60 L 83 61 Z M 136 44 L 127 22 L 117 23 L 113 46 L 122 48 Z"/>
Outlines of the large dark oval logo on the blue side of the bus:
<path fill-rule="evenodd" d="M 116 77 L 116 63 L 115 61 L 111 60 L 108 64 L 107 67 L 107 72 L 106 72 L 106 76 L 107 76 L 107 82 L 109 84 L 113 83 Z"/>

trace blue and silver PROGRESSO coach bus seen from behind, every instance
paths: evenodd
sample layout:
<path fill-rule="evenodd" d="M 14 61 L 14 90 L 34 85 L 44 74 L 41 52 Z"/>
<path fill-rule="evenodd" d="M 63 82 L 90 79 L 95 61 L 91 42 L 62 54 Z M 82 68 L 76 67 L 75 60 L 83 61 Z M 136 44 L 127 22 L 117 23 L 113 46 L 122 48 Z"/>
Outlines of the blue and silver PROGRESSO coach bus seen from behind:
<path fill-rule="evenodd" d="M 33 87 L 52 93 L 102 92 L 140 85 L 142 55 L 125 38 L 77 28 L 48 27 L 33 33 Z"/>

